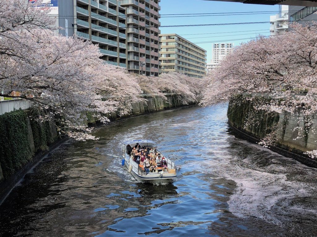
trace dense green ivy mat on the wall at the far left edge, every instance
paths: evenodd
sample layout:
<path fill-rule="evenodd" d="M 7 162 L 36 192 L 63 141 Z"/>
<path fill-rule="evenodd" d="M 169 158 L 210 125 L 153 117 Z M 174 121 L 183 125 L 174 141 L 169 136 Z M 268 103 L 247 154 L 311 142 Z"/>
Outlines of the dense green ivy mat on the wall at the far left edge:
<path fill-rule="evenodd" d="M 27 114 L 23 110 L 0 116 L 0 164 L 4 178 L 31 159 Z"/>

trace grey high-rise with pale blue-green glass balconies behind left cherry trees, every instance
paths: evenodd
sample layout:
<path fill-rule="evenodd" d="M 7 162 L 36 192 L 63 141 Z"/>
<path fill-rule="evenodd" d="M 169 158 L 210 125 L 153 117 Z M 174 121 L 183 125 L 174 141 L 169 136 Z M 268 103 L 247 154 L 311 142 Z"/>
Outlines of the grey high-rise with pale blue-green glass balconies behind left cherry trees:
<path fill-rule="evenodd" d="M 107 63 L 126 67 L 126 9 L 120 1 L 63 0 L 58 16 L 62 35 L 76 33 L 98 45 Z"/>

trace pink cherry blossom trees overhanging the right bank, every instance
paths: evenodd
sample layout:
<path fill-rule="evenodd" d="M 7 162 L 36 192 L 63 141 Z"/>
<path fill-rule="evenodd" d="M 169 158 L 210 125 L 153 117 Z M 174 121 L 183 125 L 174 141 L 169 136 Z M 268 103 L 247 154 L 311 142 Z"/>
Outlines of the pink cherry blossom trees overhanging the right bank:
<path fill-rule="evenodd" d="M 307 118 L 317 112 L 316 70 L 317 22 L 305 26 L 294 23 L 288 33 L 259 36 L 236 47 L 206 77 L 202 104 L 228 101 L 236 94 L 259 94 L 271 100 L 255 109 L 291 114 L 300 111 Z M 263 145 L 267 143 L 262 141 Z M 316 156 L 317 151 L 309 154 Z"/>

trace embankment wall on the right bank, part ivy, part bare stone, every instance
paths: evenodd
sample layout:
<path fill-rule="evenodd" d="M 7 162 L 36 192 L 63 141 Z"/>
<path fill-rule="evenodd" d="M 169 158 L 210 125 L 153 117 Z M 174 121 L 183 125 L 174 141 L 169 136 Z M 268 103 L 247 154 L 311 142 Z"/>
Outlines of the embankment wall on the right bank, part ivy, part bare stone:
<path fill-rule="evenodd" d="M 230 100 L 227 116 L 234 131 L 256 143 L 273 132 L 276 141 L 269 149 L 317 167 L 317 161 L 304 154 L 317 149 L 317 116 L 307 120 L 300 110 L 296 114 L 257 111 L 254 103 L 242 96 Z M 245 126 L 248 120 L 250 122 Z"/>

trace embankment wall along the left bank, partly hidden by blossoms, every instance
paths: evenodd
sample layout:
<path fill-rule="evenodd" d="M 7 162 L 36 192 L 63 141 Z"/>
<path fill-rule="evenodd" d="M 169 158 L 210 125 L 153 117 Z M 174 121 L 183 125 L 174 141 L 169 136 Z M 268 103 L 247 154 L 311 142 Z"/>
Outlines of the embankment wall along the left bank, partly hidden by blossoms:
<path fill-rule="evenodd" d="M 166 96 L 167 101 L 144 95 L 147 103 L 135 103 L 126 117 L 185 106 L 177 95 Z M 0 204 L 42 157 L 67 139 L 58 136 L 54 125 L 48 122 L 38 124 L 29 115 L 29 110 L 15 110 L 0 115 Z M 120 119 L 116 113 L 108 117 L 110 120 Z M 95 123 L 93 116 L 87 122 Z"/>

